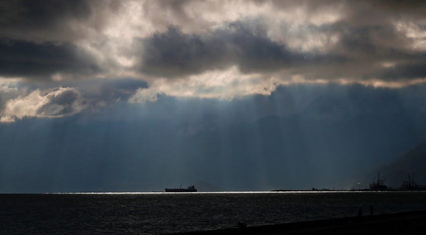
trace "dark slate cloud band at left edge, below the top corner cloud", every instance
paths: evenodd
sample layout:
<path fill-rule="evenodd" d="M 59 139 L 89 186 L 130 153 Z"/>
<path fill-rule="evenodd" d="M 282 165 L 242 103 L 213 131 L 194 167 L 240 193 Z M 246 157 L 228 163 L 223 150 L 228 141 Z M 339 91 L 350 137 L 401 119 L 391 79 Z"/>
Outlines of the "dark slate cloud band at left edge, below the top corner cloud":
<path fill-rule="evenodd" d="M 93 74 L 101 68 L 72 43 L 0 40 L 0 76 L 50 79 L 55 73 Z"/>

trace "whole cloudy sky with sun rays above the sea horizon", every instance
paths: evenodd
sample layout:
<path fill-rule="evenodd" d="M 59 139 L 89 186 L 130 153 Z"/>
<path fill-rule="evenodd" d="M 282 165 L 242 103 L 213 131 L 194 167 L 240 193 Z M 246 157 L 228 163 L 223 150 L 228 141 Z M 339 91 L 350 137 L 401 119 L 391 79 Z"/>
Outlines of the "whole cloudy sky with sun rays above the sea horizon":
<path fill-rule="evenodd" d="M 0 192 L 345 186 L 425 82 L 422 1 L 0 0 Z"/>

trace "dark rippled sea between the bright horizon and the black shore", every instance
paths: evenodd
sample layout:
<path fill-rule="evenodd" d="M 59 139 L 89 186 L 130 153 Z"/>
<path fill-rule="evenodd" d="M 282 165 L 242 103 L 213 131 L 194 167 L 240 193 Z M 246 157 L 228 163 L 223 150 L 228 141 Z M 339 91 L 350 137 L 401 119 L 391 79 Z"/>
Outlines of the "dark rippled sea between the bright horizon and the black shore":
<path fill-rule="evenodd" d="M 426 209 L 426 192 L 0 194 L 1 234 L 163 234 Z"/>

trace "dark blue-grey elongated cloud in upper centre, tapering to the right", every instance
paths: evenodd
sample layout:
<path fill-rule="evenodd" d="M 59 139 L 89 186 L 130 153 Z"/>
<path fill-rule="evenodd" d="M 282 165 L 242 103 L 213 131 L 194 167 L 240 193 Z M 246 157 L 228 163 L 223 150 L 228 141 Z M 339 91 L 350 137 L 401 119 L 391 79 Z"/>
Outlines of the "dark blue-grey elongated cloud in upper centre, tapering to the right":
<path fill-rule="evenodd" d="M 238 65 L 243 72 L 274 71 L 299 64 L 344 60 L 342 55 L 328 56 L 291 51 L 285 44 L 272 41 L 262 28 L 251 30 L 242 22 L 209 34 L 185 34 L 169 27 L 141 39 L 142 72 L 179 76 L 209 69 Z"/>

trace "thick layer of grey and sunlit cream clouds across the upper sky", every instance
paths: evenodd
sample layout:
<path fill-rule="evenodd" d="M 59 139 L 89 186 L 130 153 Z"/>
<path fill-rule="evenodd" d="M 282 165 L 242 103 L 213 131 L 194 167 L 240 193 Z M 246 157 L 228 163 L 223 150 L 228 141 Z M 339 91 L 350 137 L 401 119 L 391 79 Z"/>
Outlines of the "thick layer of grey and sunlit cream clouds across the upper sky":
<path fill-rule="evenodd" d="M 22 79 L 20 97 L 146 82 L 114 97 L 129 102 L 269 95 L 292 83 L 401 87 L 425 81 L 425 15 L 421 1 L 2 0 L 0 77 Z M 16 98 L 2 95 L 3 115 Z M 40 113 L 20 110 L 9 116 Z"/>

